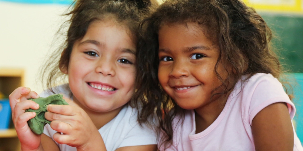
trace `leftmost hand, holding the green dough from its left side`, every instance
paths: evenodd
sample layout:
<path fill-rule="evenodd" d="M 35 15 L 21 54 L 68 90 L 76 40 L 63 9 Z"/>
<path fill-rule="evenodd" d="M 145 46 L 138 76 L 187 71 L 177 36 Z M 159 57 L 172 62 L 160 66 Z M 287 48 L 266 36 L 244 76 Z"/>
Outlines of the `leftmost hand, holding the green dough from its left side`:
<path fill-rule="evenodd" d="M 39 104 L 28 100 L 29 98 L 39 98 L 39 95 L 31 91 L 30 88 L 19 87 L 9 95 L 9 103 L 12 108 L 12 120 L 21 143 L 21 149 L 38 150 L 42 147 L 40 146 L 41 136 L 32 132 L 27 124 L 27 121 L 35 117 L 36 113 L 25 112 L 25 110 L 29 108 L 37 110 Z"/>

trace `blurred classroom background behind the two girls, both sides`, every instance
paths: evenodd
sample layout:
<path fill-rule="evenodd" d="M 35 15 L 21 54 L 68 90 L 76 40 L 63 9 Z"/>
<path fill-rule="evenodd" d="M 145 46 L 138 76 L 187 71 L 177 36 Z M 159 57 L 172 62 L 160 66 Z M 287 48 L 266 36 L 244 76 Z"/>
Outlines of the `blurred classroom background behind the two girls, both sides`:
<path fill-rule="evenodd" d="M 30 87 L 38 93 L 43 91 L 39 71 L 51 51 L 62 43 L 62 36 L 56 32 L 67 20 L 61 15 L 71 2 L 0 0 L 0 98 L 7 98 L 18 86 Z M 303 0 L 243 2 L 255 8 L 271 27 L 280 61 L 296 80 L 292 83 L 297 108 L 294 123 L 303 142 Z M 0 130 L 0 151 L 16 150 L 15 131 L 3 120 L 10 118 L 9 104 L 4 102 L 0 101 L 0 129 L 4 129 Z"/>

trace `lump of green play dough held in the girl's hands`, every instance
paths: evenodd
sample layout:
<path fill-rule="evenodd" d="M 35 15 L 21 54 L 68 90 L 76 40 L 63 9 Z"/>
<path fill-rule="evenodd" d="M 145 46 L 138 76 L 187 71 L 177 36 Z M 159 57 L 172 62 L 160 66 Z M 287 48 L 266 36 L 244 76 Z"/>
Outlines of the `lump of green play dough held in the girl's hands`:
<path fill-rule="evenodd" d="M 68 105 L 68 103 L 62 98 L 61 94 L 50 95 L 46 98 L 42 98 L 42 97 L 36 99 L 30 98 L 29 100 L 33 100 L 39 104 L 39 109 L 33 110 L 30 108 L 25 111 L 25 112 L 36 112 L 36 116 L 28 120 L 27 123 L 28 126 L 31 128 L 31 130 L 38 135 L 41 135 L 43 133 L 45 124 L 51 124 L 51 121 L 46 120 L 44 117 L 44 114 L 47 111 L 46 106 L 48 104 Z"/>

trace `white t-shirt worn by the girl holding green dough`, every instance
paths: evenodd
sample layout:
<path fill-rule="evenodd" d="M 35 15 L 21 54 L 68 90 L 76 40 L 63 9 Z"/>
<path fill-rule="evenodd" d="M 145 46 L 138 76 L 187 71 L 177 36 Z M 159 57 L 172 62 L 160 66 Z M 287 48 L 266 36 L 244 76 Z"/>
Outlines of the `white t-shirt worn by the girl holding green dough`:
<path fill-rule="evenodd" d="M 71 96 L 67 85 L 61 85 L 56 90 L 67 96 Z M 52 95 L 49 92 L 43 92 L 40 96 L 47 97 Z M 57 131 L 53 130 L 49 124 L 44 127 L 43 133 L 53 139 L 53 135 Z M 144 126 L 141 127 L 137 121 L 137 111 L 135 108 L 126 105 L 121 109 L 119 114 L 110 122 L 99 129 L 106 150 L 114 151 L 124 146 L 138 146 L 157 144 L 156 133 Z M 57 143 L 57 142 L 56 142 Z M 58 144 L 61 151 L 76 151 L 75 147 L 66 144 Z"/>

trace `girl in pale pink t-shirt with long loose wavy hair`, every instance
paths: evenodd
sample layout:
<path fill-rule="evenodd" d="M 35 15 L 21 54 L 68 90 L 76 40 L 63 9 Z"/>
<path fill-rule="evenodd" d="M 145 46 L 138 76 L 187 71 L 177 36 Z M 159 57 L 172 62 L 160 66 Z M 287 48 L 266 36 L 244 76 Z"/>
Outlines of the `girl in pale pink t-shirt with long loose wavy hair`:
<path fill-rule="evenodd" d="M 158 117 L 160 150 L 303 150 L 271 30 L 253 8 L 171 0 L 141 29 L 135 96 L 145 94 L 141 122 Z"/>

